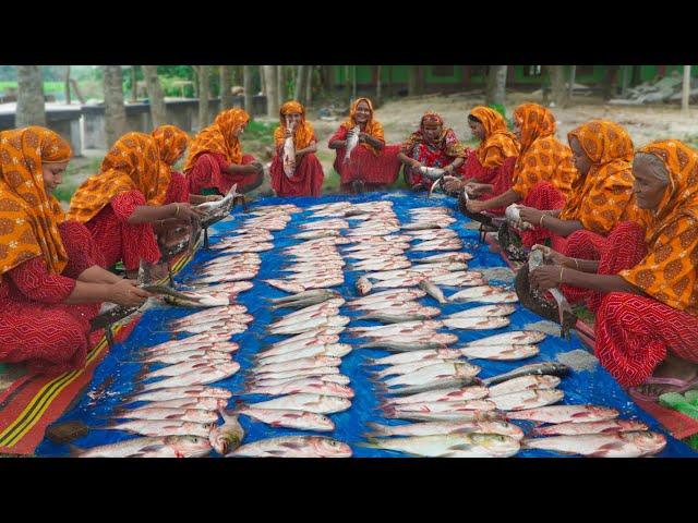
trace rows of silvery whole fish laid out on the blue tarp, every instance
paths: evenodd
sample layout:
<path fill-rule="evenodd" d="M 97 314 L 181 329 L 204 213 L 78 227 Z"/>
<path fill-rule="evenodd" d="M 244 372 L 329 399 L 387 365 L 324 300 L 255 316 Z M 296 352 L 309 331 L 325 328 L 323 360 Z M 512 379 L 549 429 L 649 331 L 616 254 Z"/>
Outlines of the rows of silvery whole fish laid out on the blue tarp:
<path fill-rule="evenodd" d="M 234 297 L 252 288 L 258 253 L 274 248 L 272 231 L 284 231 L 290 215 L 301 210 L 310 215 L 300 232 L 285 236 L 299 242 L 284 248 L 285 265 L 264 280 L 289 294 L 268 301 L 274 318 L 266 335 L 282 338 L 254 354 L 244 389 L 233 398 L 210 384 L 240 368 L 231 358 L 239 349 L 231 336 L 243 332 L 252 317 Z M 350 457 L 351 447 L 332 435 L 332 416 L 351 409 L 356 393 L 368 392 L 354 391 L 340 369 L 342 357 L 354 350 L 365 354 L 362 349 L 385 351 L 365 357 L 363 369 L 389 422 L 365 423 L 370 430 L 359 447 L 468 458 L 510 457 L 522 449 L 639 457 L 665 446 L 662 435 L 618 419 L 613 409 L 557 404 L 564 399 L 557 386 L 569 368 L 517 363 L 539 354 L 542 332 L 507 330 L 456 344 L 458 330 L 507 328 L 517 297 L 469 270 L 472 256 L 449 228 L 456 221 L 449 209 L 412 208 L 407 223 L 389 200 L 261 206 L 253 215 L 237 235 L 215 244 L 216 257 L 185 282 L 228 296 L 230 304 L 171 321 L 172 332 L 193 336 L 142 351 L 145 364 L 165 366 L 141 374 L 147 380 L 143 390 L 115 412 L 132 421 L 111 428 L 145 437 L 83 455 L 198 457 L 215 449 L 228 457 Z M 344 285 L 345 272 L 359 276 L 356 295 L 333 289 Z M 442 307 L 453 304 L 466 308 L 443 315 Z M 350 343 L 340 342 L 342 332 Z M 482 378 L 482 360 L 514 366 Z M 249 394 L 268 398 L 244 401 Z M 231 400 L 236 408 L 226 411 Z M 245 442 L 240 415 L 308 435 Z"/>

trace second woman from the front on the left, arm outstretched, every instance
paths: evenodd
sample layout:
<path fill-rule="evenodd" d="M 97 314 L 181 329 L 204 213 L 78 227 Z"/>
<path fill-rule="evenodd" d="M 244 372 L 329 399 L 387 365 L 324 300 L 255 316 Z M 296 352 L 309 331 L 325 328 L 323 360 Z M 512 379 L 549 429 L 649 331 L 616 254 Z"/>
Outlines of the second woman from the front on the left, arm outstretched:
<path fill-rule="evenodd" d="M 201 216 L 186 203 L 165 205 L 170 169 L 160 161 L 153 136 L 127 133 L 107 154 L 99 173 L 77 187 L 70 219 L 85 223 L 105 257 L 106 267 L 123 262 L 133 276 L 141 259 L 160 259 L 154 226 L 189 223 Z"/>

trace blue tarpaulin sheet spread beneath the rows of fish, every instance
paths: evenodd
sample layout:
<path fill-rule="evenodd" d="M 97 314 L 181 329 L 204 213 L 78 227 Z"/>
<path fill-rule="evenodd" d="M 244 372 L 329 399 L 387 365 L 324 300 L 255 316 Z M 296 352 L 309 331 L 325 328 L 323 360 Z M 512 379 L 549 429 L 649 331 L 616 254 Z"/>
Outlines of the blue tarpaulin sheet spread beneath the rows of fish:
<path fill-rule="evenodd" d="M 293 203 L 301 208 L 312 205 L 349 200 L 352 203 L 362 203 L 371 200 L 387 199 L 394 203 L 394 210 L 402 223 L 410 221 L 408 214 L 410 208 L 423 206 L 447 206 L 454 210 L 454 216 L 458 218 L 456 223 L 450 226 L 458 232 L 464 241 L 465 250 L 473 255 L 473 259 L 469 262 L 469 268 L 481 270 L 483 268 L 506 267 L 500 255 L 491 253 L 486 244 L 478 242 L 478 231 L 466 228 L 469 220 L 462 217 L 457 209 L 456 202 L 453 198 L 431 198 L 424 196 L 416 196 L 405 192 L 393 193 L 373 193 L 359 196 L 325 196 L 321 198 L 263 198 L 251 205 L 251 209 L 256 206 L 277 205 L 284 203 Z M 240 344 L 240 350 L 233 353 L 234 360 L 240 363 L 241 369 L 234 376 L 212 384 L 215 387 L 224 387 L 233 392 L 228 409 L 234 409 L 239 401 L 244 403 L 254 403 L 256 401 L 268 400 L 268 397 L 246 394 L 241 396 L 244 388 L 244 379 L 246 370 L 252 366 L 252 356 L 255 355 L 264 345 L 285 339 L 280 336 L 268 336 L 265 327 L 278 319 L 279 316 L 289 314 L 293 309 L 282 308 L 272 312 L 268 308 L 266 299 L 280 297 L 287 293 L 275 289 L 263 282 L 264 279 L 279 278 L 278 269 L 287 263 L 284 259 L 282 250 L 287 246 L 300 243 L 301 240 L 291 239 L 290 236 L 300 230 L 298 227 L 309 220 L 310 211 L 293 214 L 291 221 L 284 231 L 274 231 L 274 250 L 260 253 L 262 265 L 260 272 L 254 280 L 254 288 L 250 291 L 238 295 L 238 302 L 248 307 L 249 314 L 254 316 L 254 321 L 250 324 L 249 329 L 241 335 L 234 335 L 231 339 Z M 240 227 L 242 222 L 250 217 L 242 212 L 241 208 L 236 208 L 231 219 L 216 223 L 210 230 L 210 241 L 214 244 L 227 236 L 229 233 Z M 350 223 L 359 223 L 353 221 Z M 408 253 L 411 258 L 418 258 L 434 253 Z M 209 260 L 216 256 L 214 251 L 198 251 L 194 259 L 180 272 L 176 281 L 185 283 L 188 278 L 196 273 L 196 268 L 203 262 Z M 341 292 L 346 299 L 357 296 L 356 280 L 363 272 L 350 271 L 345 267 L 345 284 L 335 288 Z M 494 284 L 512 285 L 512 281 L 491 280 Z M 455 289 L 446 290 L 446 295 L 456 292 Z M 437 305 L 435 300 L 425 296 L 420 300 L 424 305 Z M 478 303 L 447 304 L 443 306 L 443 315 L 464 311 L 466 308 L 479 306 Z M 167 323 L 173 318 L 179 318 L 192 314 L 196 311 L 176 308 L 163 305 L 159 308 L 149 308 L 143 315 L 140 324 L 133 330 L 133 333 L 123 343 L 117 344 L 107 355 L 104 362 L 95 370 L 94 379 L 89 386 L 89 390 L 85 391 L 77 404 L 65 412 L 59 422 L 69 419 L 77 419 L 91 427 L 89 433 L 73 442 L 79 448 L 92 448 L 96 446 L 117 442 L 128 438 L 137 437 L 135 435 L 119 431 L 105 430 L 99 427 L 108 423 L 112 410 L 122 403 L 121 397 L 134 390 L 134 377 L 142 369 L 142 364 L 133 363 L 139 354 L 139 350 L 152 346 L 171 339 L 171 335 L 167 331 Z M 341 314 L 352 317 L 350 327 L 361 325 L 377 325 L 375 323 L 354 319 L 360 313 L 349 311 L 348 307 L 341 308 Z M 517 311 L 510 316 L 512 325 L 509 330 L 525 329 L 527 325 L 541 321 L 541 317 L 517 305 Z M 486 336 L 500 333 L 504 329 L 498 330 L 450 330 L 458 335 L 460 342 L 467 342 Z M 361 341 L 350 338 L 345 331 L 340 335 L 341 343 L 358 344 Z M 492 362 L 484 360 L 474 360 L 473 363 L 482 367 L 480 377 L 490 377 L 501 373 L 506 373 L 519 365 L 540 362 L 556 361 L 557 357 L 565 352 L 583 350 L 583 345 L 573 332 L 570 340 L 561 339 L 557 336 L 549 335 L 546 339 L 540 343 L 540 354 L 535 357 L 526 360 L 525 362 Z M 336 429 L 333 433 L 322 433 L 347 442 L 351 446 L 353 455 L 357 458 L 377 458 L 377 457 L 405 457 L 399 452 L 384 451 L 378 449 L 363 448 L 357 443 L 365 441 L 364 433 L 369 431 L 368 422 L 381 424 L 401 424 L 409 423 L 397 419 L 386 419 L 382 417 L 378 410 L 380 398 L 375 392 L 375 385 L 371 382 L 371 367 L 364 365 L 369 357 L 382 357 L 389 353 L 382 350 L 356 349 L 342 358 L 340 372 L 351 379 L 350 387 L 353 388 L 356 396 L 352 399 L 352 406 L 341 413 L 330 414 L 329 417 L 335 422 Z M 159 368 L 155 365 L 152 368 Z M 376 367 L 373 367 L 374 369 Z M 651 430 L 662 433 L 666 436 L 667 445 L 665 449 L 658 454 L 659 457 L 694 457 L 696 453 L 686 445 L 672 438 L 666 434 L 660 425 L 643 411 L 641 411 L 631 399 L 623 391 L 623 389 L 613 380 L 613 378 L 598 363 L 592 368 L 585 370 L 574 370 L 570 376 L 563 378 L 559 389 L 565 392 L 565 398 L 561 402 L 563 404 L 597 404 L 617 409 L 621 417 L 626 419 L 638 419 L 646 423 Z M 136 404 L 137 406 L 137 404 Z M 221 422 L 220 422 L 221 423 Z M 311 433 L 303 430 L 294 430 L 289 428 L 274 428 L 261 422 L 253 421 L 246 416 L 240 416 L 240 423 L 246 431 L 244 443 L 256 441 L 264 438 L 277 436 L 292 435 L 311 435 L 321 433 Z M 519 422 L 516 422 L 519 423 Z M 529 428 L 530 425 L 521 422 L 522 428 Z M 69 454 L 68 445 L 56 445 L 45 439 L 37 448 L 36 453 L 45 457 L 61 457 Z M 212 452 L 212 455 L 216 455 Z M 521 450 L 517 457 L 558 457 L 559 454 L 539 451 L 539 450 Z"/>

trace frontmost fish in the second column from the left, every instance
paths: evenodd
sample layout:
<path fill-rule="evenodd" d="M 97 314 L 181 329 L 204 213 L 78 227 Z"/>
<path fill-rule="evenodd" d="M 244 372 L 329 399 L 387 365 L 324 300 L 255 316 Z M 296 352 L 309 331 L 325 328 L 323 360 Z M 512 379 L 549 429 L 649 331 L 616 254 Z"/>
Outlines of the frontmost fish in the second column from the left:
<path fill-rule="evenodd" d="M 320 436 L 287 436 L 246 443 L 228 454 L 249 458 L 351 458 L 351 447 Z"/>

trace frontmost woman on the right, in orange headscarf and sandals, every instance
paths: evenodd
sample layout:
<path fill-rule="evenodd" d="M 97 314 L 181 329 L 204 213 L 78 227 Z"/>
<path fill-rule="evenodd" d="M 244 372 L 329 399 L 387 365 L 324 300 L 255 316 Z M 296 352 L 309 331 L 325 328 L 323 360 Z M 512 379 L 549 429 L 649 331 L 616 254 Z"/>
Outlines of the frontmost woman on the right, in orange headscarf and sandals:
<path fill-rule="evenodd" d="M 530 279 L 541 290 L 594 291 L 599 361 L 625 387 L 646 384 L 631 393 L 655 399 L 698 384 L 698 153 L 653 142 L 636 153 L 633 173 L 641 226 L 616 226 L 598 262 L 571 269 L 554 257 Z"/>

